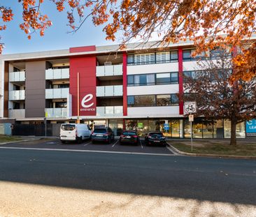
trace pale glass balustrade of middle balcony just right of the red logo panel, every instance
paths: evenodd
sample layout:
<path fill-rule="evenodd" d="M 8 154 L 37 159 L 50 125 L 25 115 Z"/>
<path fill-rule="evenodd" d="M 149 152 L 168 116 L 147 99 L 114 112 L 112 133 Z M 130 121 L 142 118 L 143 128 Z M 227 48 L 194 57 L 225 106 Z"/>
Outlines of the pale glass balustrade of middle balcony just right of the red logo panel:
<path fill-rule="evenodd" d="M 96 96 L 122 96 L 122 85 L 98 86 Z"/>

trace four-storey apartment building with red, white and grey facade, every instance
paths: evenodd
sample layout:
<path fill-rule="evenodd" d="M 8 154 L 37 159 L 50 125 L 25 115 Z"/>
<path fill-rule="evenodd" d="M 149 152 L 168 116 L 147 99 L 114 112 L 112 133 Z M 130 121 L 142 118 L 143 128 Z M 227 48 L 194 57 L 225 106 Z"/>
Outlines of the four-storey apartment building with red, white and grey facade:
<path fill-rule="evenodd" d="M 71 47 L 68 50 L 8 54 L 0 58 L 0 122 L 61 124 L 80 121 L 122 129 L 162 130 L 190 137 L 184 117 L 183 74 L 197 69 L 192 42 L 161 47 L 130 44 Z M 164 124 L 169 130 L 164 130 Z M 194 137 L 230 137 L 230 123 L 194 121 Z M 246 124 L 237 126 L 246 137 Z"/>

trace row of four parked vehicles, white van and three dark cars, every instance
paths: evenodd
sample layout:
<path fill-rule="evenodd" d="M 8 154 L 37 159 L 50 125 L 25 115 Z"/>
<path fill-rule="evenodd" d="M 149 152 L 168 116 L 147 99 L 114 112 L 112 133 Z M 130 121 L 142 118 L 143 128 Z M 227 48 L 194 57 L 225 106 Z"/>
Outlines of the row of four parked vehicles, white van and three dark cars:
<path fill-rule="evenodd" d="M 92 143 L 107 142 L 110 144 L 115 140 L 113 130 L 109 127 L 95 128 L 91 131 L 87 124 L 62 124 L 59 139 L 62 143 L 76 141 L 78 143 L 85 139 L 91 139 Z M 140 144 L 140 137 L 136 130 L 124 130 L 120 135 L 120 144 Z M 145 134 L 146 145 L 166 145 L 166 137 L 160 131 L 152 131 Z"/>

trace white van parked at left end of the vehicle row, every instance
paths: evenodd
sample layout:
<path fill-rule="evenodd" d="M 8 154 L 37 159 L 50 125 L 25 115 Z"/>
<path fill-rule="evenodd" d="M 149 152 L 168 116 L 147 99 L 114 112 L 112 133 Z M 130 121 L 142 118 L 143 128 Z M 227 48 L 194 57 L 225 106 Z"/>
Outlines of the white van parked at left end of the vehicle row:
<path fill-rule="evenodd" d="M 82 142 L 91 137 L 91 129 L 87 124 L 62 124 L 59 139 L 62 143 L 67 141 Z"/>

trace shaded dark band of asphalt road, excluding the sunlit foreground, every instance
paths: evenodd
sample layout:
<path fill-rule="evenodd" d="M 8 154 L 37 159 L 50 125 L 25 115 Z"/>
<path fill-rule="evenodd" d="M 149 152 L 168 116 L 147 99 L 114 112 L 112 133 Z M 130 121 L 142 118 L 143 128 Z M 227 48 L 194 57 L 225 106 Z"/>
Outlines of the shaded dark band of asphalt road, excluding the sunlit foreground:
<path fill-rule="evenodd" d="M 0 149 L 0 181 L 256 205 L 256 161 Z"/>

